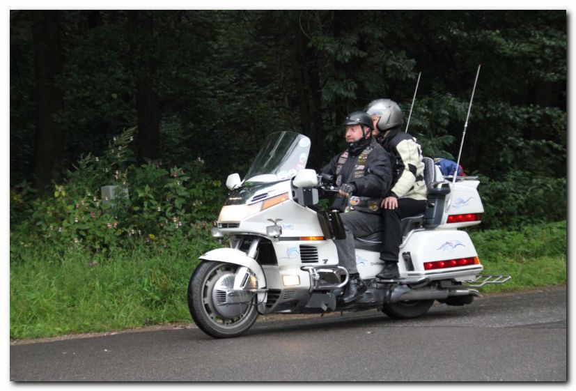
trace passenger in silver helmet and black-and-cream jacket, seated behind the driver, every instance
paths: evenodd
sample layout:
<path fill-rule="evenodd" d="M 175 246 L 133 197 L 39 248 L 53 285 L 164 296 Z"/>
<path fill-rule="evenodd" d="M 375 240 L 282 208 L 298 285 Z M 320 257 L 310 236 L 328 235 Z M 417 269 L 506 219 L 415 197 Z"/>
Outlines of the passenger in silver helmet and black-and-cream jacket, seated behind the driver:
<path fill-rule="evenodd" d="M 392 186 L 381 205 L 383 244 L 380 259 L 384 261 L 384 269 L 376 277 L 394 279 L 400 277 L 400 220 L 423 213 L 426 209 L 422 149 L 417 139 L 400 129 L 403 124 L 402 110 L 393 100 L 373 100 L 366 112 L 373 120 L 373 136 L 390 153 L 393 164 Z"/>

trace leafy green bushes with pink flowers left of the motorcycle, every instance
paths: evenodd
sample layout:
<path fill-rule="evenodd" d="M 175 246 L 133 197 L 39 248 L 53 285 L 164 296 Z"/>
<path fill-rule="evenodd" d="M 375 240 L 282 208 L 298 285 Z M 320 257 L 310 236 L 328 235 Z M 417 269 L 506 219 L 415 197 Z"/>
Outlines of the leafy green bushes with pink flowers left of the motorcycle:
<path fill-rule="evenodd" d="M 82 158 L 50 197 L 34 199 L 35 193 L 22 186 L 13 190 L 11 244 L 105 253 L 140 244 L 162 249 L 190 238 L 209 238 L 211 221 L 226 194 L 221 182 L 205 173 L 201 159 L 183 167 L 129 164 L 132 132 L 114 137 L 102 157 Z M 116 186 L 114 199 L 102 196 L 104 185 Z M 17 247 L 11 251 L 17 256 Z"/>

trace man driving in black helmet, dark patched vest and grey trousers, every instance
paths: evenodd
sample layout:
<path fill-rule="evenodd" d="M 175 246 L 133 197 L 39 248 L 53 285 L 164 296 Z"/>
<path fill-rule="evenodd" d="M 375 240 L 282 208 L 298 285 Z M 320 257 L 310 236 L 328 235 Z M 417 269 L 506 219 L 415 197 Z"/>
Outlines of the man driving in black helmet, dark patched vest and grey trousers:
<path fill-rule="evenodd" d="M 346 237 L 334 240 L 338 263 L 350 274 L 350 282 L 340 299 L 348 303 L 367 289 L 356 267 L 354 237 L 380 231 L 380 201 L 390 189 L 392 172 L 388 153 L 372 138 L 371 117 L 365 112 L 352 112 L 344 124 L 348 148 L 334 156 L 322 174 L 336 178 L 338 197 L 346 197 L 348 201 L 349 211 L 341 213 Z"/>

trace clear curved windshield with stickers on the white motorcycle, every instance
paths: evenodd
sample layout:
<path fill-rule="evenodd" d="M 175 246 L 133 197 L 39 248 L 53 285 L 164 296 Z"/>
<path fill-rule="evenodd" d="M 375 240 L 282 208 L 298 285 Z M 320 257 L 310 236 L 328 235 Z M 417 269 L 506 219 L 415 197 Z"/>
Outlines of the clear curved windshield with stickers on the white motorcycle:
<path fill-rule="evenodd" d="M 244 178 L 247 182 L 275 182 L 293 178 L 306 167 L 310 139 L 295 132 L 269 135 Z"/>

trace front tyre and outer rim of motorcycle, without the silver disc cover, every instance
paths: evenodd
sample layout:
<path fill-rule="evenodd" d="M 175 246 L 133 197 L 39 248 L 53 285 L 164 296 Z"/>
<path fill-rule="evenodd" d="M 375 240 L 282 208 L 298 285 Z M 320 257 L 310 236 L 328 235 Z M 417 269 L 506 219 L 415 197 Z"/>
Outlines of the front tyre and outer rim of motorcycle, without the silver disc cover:
<path fill-rule="evenodd" d="M 218 312 L 212 291 L 218 280 L 234 275 L 238 265 L 214 261 L 200 263 L 188 284 L 188 309 L 200 330 L 215 338 L 238 337 L 254 324 L 258 317 L 256 296 L 238 316 L 226 317 Z"/>

